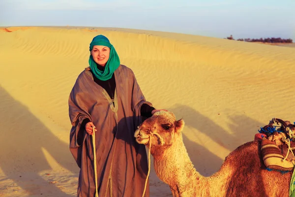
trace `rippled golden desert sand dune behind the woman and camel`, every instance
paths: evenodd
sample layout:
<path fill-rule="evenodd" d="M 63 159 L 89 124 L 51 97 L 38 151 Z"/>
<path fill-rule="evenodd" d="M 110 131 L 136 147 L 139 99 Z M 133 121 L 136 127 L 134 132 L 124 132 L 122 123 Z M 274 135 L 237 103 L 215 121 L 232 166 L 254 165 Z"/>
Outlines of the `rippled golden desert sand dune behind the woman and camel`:
<path fill-rule="evenodd" d="M 68 96 L 98 34 L 155 108 L 183 118 L 184 144 L 202 175 L 272 118 L 295 121 L 292 47 L 114 28 L 1 28 L 0 197 L 76 195 Z M 149 184 L 151 197 L 172 196 L 153 168 Z"/>

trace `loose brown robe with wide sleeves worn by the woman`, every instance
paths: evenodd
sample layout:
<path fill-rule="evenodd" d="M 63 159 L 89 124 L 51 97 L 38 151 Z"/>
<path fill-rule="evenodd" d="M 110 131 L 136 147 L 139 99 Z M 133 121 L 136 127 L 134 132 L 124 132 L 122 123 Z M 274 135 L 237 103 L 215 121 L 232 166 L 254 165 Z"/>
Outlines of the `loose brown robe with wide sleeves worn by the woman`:
<path fill-rule="evenodd" d="M 78 197 L 94 197 L 92 136 L 82 121 L 89 118 L 95 132 L 99 197 L 141 197 L 148 174 L 146 148 L 134 131 L 141 123 L 140 107 L 147 102 L 133 71 L 120 65 L 114 72 L 115 105 L 108 93 L 93 81 L 89 69 L 77 78 L 69 96 L 70 151 L 80 167 Z M 149 187 L 145 197 L 149 197 Z"/>

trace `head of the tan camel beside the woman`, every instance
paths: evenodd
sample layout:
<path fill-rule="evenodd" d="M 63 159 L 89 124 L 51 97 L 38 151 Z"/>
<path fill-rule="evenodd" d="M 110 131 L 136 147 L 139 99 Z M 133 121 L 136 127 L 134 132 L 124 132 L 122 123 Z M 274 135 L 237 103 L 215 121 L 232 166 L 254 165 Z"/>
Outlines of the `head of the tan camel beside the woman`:
<path fill-rule="evenodd" d="M 134 137 L 138 143 L 148 145 L 151 135 L 151 146 L 169 146 L 181 134 L 183 126 L 184 121 L 177 121 L 172 112 L 158 111 L 138 127 Z"/>

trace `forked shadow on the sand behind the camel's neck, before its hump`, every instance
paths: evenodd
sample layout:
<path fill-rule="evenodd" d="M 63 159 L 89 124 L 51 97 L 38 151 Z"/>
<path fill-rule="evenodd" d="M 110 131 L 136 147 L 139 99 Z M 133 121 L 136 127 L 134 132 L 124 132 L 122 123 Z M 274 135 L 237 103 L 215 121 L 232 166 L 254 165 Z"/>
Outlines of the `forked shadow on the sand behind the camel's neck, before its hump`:
<path fill-rule="evenodd" d="M 245 142 L 252 141 L 255 133 L 258 132 L 258 126 L 263 125 L 244 115 L 229 117 L 233 122 L 233 124 L 229 125 L 233 133 L 231 134 L 189 106 L 177 104 L 168 110 L 176 115 L 177 120 L 183 118 L 185 122 L 183 131 L 185 131 L 186 127 L 192 127 L 205 133 L 213 141 L 231 151 Z M 188 114 L 187 117 L 185 117 L 185 114 Z M 210 176 L 219 170 L 224 160 L 207 150 L 206 147 L 190 140 L 185 133 L 182 136 L 188 155 L 201 175 Z M 210 168 L 207 168 L 207 166 L 210 166 Z"/>

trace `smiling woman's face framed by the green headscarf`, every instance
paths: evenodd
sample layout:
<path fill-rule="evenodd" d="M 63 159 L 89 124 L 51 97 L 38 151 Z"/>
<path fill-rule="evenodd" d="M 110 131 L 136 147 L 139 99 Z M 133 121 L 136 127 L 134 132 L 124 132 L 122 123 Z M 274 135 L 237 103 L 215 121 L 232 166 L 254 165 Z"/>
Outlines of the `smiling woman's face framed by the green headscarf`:
<path fill-rule="evenodd" d="M 91 50 L 91 55 L 98 65 L 105 66 L 110 58 L 110 48 L 107 46 L 95 45 Z"/>

